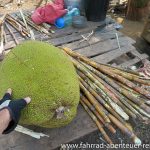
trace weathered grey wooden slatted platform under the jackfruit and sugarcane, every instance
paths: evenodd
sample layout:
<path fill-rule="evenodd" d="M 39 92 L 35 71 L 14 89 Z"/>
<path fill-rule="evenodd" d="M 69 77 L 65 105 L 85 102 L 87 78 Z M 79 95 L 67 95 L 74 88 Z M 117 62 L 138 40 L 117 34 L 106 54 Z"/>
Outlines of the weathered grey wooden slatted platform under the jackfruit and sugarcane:
<path fill-rule="evenodd" d="M 115 66 L 130 67 L 143 59 L 147 59 L 148 55 L 139 53 L 133 44 L 135 41 L 122 33 L 116 31 L 112 24 L 103 27 L 103 23 L 89 22 L 84 29 L 75 29 L 67 27 L 65 29 L 56 30 L 55 34 L 50 37 L 39 32 L 35 32 L 36 38 L 46 41 L 55 46 L 66 46 L 72 50 L 79 52 L 96 62 L 109 63 Z M 14 34 L 20 42 L 24 39 L 15 29 Z M 93 36 L 88 41 L 83 41 L 81 35 L 85 37 L 94 31 Z M 15 46 L 15 42 L 8 31 L 8 43 L 5 45 L 6 50 L 10 50 Z M 119 37 L 120 49 L 116 39 L 116 33 Z M 78 114 L 71 124 L 59 129 L 43 129 L 32 127 L 37 132 L 48 134 L 50 138 L 42 138 L 36 140 L 24 134 L 13 132 L 10 135 L 0 137 L 0 150 L 50 150 L 59 147 L 61 144 L 69 143 L 82 136 L 90 134 L 97 130 L 97 127 L 89 118 L 87 113 L 79 105 Z"/>

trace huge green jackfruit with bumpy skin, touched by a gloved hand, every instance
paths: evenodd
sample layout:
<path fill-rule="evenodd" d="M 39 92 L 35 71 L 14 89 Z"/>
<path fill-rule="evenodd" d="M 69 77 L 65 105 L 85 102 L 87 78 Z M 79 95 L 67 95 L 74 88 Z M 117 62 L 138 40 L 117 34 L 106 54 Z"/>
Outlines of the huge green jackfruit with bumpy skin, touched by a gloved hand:
<path fill-rule="evenodd" d="M 0 63 L 0 96 L 7 88 L 13 98 L 30 96 L 20 123 L 55 128 L 67 125 L 77 112 L 79 82 L 69 58 L 39 41 L 16 46 Z"/>

